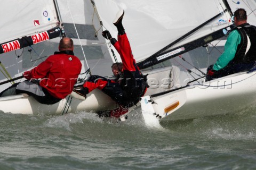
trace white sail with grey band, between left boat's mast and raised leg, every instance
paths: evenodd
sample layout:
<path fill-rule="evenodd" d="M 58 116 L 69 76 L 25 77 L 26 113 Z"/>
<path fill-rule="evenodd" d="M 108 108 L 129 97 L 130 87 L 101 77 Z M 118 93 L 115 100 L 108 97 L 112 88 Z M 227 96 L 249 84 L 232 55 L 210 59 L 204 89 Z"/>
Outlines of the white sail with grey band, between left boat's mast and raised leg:
<path fill-rule="evenodd" d="M 90 0 L 58 0 L 61 19 L 66 36 L 74 40 L 74 53 L 88 67 L 92 74 L 111 75 L 114 58 L 109 53 L 109 45 L 102 37 L 100 19 Z M 82 50 L 82 48 L 83 50 Z"/>

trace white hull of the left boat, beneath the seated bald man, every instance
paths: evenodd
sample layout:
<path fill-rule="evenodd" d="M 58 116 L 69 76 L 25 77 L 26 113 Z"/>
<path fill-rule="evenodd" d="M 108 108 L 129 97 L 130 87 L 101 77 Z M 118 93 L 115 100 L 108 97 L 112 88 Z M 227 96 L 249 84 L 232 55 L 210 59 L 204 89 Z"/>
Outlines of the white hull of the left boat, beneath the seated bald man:
<path fill-rule="evenodd" d="M 112 110 L 116 107 L 116 102 L 98 89 L 88 94 L 86 100 L 66 97 L 53 105 L 40 104 L 33 97 L 27 95 L 0 98 L 0 110 L 4 113 L 13 114 L 62 115 L 79 111 L 97 112 Z"/>

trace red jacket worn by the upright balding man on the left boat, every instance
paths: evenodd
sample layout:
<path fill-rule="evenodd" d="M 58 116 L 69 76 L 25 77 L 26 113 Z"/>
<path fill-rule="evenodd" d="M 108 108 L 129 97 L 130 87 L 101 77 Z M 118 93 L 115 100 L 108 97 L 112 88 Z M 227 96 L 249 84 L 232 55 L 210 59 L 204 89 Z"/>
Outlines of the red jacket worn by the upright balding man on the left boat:
<path fill-rule="evenodd" d="M 72 92 L 81 69 L 81 61 L 73 55 L 73 52 L 63 51 L 55 52 L 23 75 L 28 80 L 41 78 L 39 83 L 41 87 L 53 97 L 63 99 Z"/>

